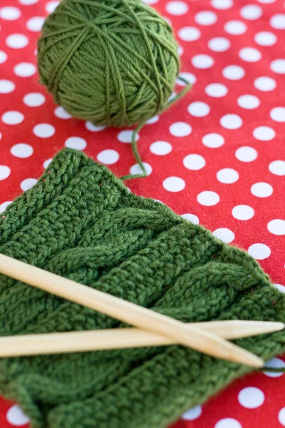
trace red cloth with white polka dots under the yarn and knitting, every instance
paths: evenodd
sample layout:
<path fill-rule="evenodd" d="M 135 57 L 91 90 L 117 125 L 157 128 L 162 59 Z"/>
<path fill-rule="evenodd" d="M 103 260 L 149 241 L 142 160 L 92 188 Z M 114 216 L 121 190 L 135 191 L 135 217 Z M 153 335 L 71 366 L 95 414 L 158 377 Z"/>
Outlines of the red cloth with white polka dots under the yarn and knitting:
<path fill-rule="evenodd" d="M 175 28 L 191 93 L 138 136 L 147 178 L 131 191 L 160 200 L 245 248 L 285 292 L 285 11 L 279 0 L 145 0 Z M 78 121 L 38 84 L 36 40 L 56 0 L 1 0 L 0 212 L 63 147 L 120 176 L 140 173 L 129 129 Z M 177 78 L 176 93 L 185 83 Z M 267 367 L 284 367 L 284 357 Z M 239 379 L 172 428 L 285 427 L 285 375 Z M 0 398 L 1 428 L 28 427 Z"/>

